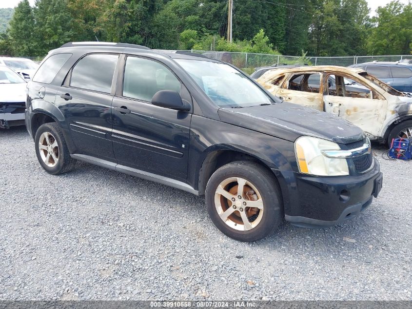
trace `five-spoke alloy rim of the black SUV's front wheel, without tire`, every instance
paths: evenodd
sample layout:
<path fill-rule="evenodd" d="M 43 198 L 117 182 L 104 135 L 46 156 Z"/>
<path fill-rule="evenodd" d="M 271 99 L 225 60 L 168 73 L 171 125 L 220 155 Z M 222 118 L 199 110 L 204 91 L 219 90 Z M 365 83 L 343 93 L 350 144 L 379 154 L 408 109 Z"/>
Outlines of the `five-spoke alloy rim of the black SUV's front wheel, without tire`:
<path fill-rule="evenodd" d="M 263 217 L 263 200 L 255 185 L 231 177 L 216 188 L 215 206 L 220 219 L 236 230 L 251 230 Z"/>

